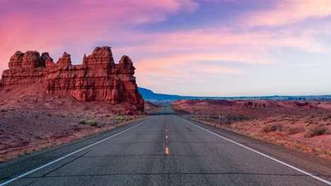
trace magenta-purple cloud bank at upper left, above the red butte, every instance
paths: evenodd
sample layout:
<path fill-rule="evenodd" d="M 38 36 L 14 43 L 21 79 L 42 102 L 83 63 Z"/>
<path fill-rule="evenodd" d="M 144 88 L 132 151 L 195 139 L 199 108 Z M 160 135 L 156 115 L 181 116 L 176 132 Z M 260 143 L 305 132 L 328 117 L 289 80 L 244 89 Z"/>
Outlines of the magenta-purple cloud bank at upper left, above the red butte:
<path fill-rule="evenodd" d="M 71 53 L 90 49 L 105 37 L 118 41 L 122 32 L 133 25 L 156 23 L 180 11 L 190 12 L 199 7 L 192 0 L 7 0 L 0 3 L 0 27 L 5 28 L 0 30 L 0 73 L 7 68 L 16 50 L 49 51 L 52 55 L 64 50 Z"/>

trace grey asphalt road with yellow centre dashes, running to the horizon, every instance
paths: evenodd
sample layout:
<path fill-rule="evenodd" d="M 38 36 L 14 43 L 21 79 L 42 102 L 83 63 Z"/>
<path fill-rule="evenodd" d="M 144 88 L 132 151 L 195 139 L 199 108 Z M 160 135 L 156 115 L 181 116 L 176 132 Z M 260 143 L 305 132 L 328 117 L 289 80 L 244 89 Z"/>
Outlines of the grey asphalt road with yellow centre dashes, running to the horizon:
<path fill-rule="evenodd" d="M 173 115 L 0 164 L 1 185 L 331 185 L 331 161 Z"/>

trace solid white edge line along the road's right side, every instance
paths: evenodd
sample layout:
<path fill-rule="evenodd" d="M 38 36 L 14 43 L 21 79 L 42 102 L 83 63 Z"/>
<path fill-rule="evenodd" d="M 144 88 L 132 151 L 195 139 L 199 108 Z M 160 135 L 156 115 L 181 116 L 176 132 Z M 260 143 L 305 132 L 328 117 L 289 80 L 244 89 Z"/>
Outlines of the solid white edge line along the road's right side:
<path fill-rule="evenodd" d="M 183 118 L 181 118 L 181 119 L 182 119 L 182 120 L 185 120 L 185 119 L 183 119 Z M 280 160 L 278 160 L 278 159 L 274 159 L 274 158 L 272 158 L 271 156 L 268 156 L 267 154 L 263 154 L 262 152 L 260 152 L 260 151 L 256 151 L 256 150 L 254 150 L 254 149 L 251 149 L 250 147 L 246 147 L 245 145 L 240 144 L 240 143 L 238 143 L 238 142 L 234 142 L 233 140 L 230 140 L 230 139 L 228 139 L 228 138 L 226 138 L 226 137 L 223 137 L 223 136 L 221 136 L 221 135 L 217 135 L 216 133 L 211 132 L 211 131 L 209 131 L 209 130 L 207 130 L 207 129 L 204 129 L 204 128 L 200 127 L 199 125 L 195 125 L 195 124 L 191 123 L 191 122 L 188 121 L 188 120 L 185 120 L 185 121 L 186 121 L 187 123 L 190 123 L 191 125 L 196 126 L 197 128 L 201 128 L 202 130 L 205 130 L 205 131 L 207 131 L 207 132 L 209 132 L 209 133 L 211 133 L 211 134 L 213 134 L 213 135 L 216 135 L 217 137 L 221 137 L 221 138 L 223 138 L 224 140 L 228 140 L 229 142 L 233 142 L 234 144 L 238 144 L 240 147 L 244 147 L 245 149 L 249 149 L 250 151 L 254 151 L 254 152 L 257 153 L 257 154 L 260 154 L 261 156 L 265 156 L 265 157 L 267 157 L 268 159 L 272 159 L 273 161 L 277 161 L 278 163 L 281 163 L 281 164 L 283 164 L 284 166 L 288 166 L 289 168 L 292 168 L 292 169 L 294 169 L 294 170 L 296 170 L 296 171 L 298 171 L 298 172 L 300 172 L 300 173 L 303 173 L 303 174 L 305 174 L 305 175 L 308 175 L 308 176 L 310 176 L 311 178 L 315 178 L 316 180 L 320 180 L 321 182 L 325 182 L 327 185 L 331 185 L 331 182 L 329 182 L 329 181 L 327 181 L 327 180 L 323 180 L 322 178 L 319 178 L 318 176 L 315 176 L 315 175 L 312 175 L 312 174 L 310 174 L 310 173 L 307 173 L 306 171 L 303 171 L 303 170 L 301 170 L 301 169 L 299 169 L 299 168 L 296 168 L 296 167 L 294 167 L 294 166 L 291 166 L 291 165 L 289 165 L 289 164 L 287 164 L 287 163 L 285 163 L 285 162 L 283 162 L 283 161 L 280 161 Z"/>

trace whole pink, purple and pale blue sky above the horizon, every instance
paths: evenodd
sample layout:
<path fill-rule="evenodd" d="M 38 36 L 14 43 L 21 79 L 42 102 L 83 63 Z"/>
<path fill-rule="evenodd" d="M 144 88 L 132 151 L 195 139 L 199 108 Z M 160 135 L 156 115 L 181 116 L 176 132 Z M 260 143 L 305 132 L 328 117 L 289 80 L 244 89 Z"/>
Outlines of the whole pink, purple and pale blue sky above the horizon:
<path fill-rule="evenodd" d="M 0 43 L 0 73 L 15 51 L 112 46 L 153 92 L 331 94 L 331 0 L 0 0 Z"/>

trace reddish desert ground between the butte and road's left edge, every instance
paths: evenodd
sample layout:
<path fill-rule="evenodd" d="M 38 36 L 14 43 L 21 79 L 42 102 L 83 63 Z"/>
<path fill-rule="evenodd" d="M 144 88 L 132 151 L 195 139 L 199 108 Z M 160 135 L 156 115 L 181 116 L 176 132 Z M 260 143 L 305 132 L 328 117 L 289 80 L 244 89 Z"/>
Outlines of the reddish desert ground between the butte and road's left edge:
<path fill-rule="evenodd" d="M 1 89 L 0 95 L 0 161 L 109 130 L 114 117 L 117 126 L 147 117 L 127 116 L 129 104 L 49 96 L 37 86 Z"/>

